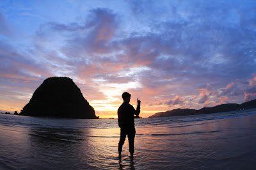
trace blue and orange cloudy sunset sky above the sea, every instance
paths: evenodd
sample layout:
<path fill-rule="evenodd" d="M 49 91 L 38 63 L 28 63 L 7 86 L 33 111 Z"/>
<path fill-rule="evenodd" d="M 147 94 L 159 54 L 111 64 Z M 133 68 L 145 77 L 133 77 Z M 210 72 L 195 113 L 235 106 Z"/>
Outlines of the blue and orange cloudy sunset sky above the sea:
<path fill-rule="evenodd" d="M 0 112 L 70 77 L 100 118 L 256 98 L 256 1 L 2 1 Z"/>

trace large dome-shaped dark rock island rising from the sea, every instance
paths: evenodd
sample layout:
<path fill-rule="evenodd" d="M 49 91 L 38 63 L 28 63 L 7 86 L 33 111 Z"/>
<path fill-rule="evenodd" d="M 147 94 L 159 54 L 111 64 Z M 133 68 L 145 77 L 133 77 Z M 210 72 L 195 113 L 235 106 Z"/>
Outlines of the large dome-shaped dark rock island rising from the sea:
<path fill-rule="evenodd" d="M 83 97 L 81 90 L 68 77 L 50 77 L 36 89 L 29 103 L 20 111 L 26 116 L 60 118 L 99 118 Z"/>

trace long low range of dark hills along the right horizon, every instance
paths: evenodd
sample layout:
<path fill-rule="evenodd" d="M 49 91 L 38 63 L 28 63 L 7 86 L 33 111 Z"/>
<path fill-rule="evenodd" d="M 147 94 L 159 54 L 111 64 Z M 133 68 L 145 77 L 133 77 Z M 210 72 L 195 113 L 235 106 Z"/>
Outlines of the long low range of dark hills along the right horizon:
<path fill-rule="evenodd" d="M 157 112 L 148 118 L 155 117 L 168 117 L 168 116 L 188 116 L 194 114 L 209 114 L 214 112 L 228 112 L 228 111 L 238 111 L 243 109 L 256 108 L 256 99 L 250 102 L 245 102 L 243 104 L 221 104 L 214 107 L 204 107 L 199 110 L 195 109 L 173 109 L 172 111 Z"/>

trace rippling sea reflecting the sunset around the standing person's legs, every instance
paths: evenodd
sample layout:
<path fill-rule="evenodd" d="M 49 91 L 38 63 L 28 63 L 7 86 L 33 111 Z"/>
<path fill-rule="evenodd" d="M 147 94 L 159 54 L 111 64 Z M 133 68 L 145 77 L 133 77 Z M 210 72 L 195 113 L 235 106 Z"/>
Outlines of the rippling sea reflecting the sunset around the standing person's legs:
<path fill-rule="evenodd" d="M 0 169 L 256 169 L 256 109 L 135 124 L 119 159 L 117 120 L 0 114 Z"/>

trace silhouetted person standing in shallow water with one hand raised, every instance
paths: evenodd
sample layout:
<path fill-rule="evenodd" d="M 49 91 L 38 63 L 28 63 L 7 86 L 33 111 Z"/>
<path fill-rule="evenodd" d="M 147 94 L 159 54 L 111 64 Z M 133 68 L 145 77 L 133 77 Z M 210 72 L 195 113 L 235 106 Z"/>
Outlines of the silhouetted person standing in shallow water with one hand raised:
<path fill-rule="evenodd" d="M 134 126 L 134 114 L 138 116 L 140 114 L 140 100 L 137 98 L 137 108 L 129 104 L 131 100 L 131 94 L 124 92 L 122 94 L 124 103 L 118 108 L 118 126 L 120 127 L 120 140 L 118 143 L 118 153 L 119 158 L 121 157 L 121 152 L 126 135 L 128 135 L 129 140 L 129 151 L 131 158 L 133 158 L 134 153 L 134 137 L 135 137 L 135 126 Z"/>

